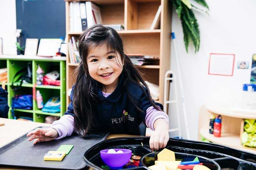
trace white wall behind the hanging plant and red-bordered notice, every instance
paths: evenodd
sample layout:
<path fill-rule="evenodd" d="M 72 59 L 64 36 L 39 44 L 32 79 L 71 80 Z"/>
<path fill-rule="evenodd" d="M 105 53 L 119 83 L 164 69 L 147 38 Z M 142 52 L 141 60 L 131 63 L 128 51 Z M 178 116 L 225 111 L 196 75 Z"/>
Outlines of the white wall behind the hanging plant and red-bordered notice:
<path fill-rule="evenodd" d="M 256 1 L 206 0 L 206 2 L 210 8 L 210 16 L 194 10 L 201 36 L 200 49 L 196 54 L 192 43 L 186 53 L 180 18 L 175 9 L 172 16 L 172 31 L 176 35 L 188 127 L 192 140 L 197 139 L 199 108 L 210 101 L 235 101 L 242 90 L 242 84 L 250 82 L 252 54 L 256 53 L 254 22 Z M 233 76 L 208 75 L 210 53 L 235 54 Z M 241 60 L 249 61 L 249 69 L 237 69 L 237 61 Z M 171 69 L 178 73 L 173 44 L 171 62 Z M 169 114 L 171 126 L 177 126 L 174 105 Z M 183 118 L 182 114 L 181 117 Z M 184 121 L 181 122 L 182 137 L 186 138 L 185 124 Z M 177 136 L 177 133 L 173 135 Z"/>

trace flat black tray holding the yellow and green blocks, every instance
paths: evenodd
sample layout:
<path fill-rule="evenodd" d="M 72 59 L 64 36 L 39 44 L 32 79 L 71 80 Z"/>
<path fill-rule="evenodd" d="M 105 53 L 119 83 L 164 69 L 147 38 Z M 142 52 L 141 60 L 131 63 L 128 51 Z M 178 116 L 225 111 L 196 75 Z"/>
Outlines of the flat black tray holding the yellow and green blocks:
<path fill-rule="evenodd" d="M 39 128 L 47 128 L 47 126 Z M 36 145 L 33 145 L 32 141 L 29 142 L 29 137 L 26 135 L 27 133 L 0 148 L 0 165 L 46 169 L 82 169 L 86 167 L 83 159 L 84 152 L 96 143 L 105 140 L 108 133 L 91 134 L 85 138 L 72 135 L 60 140 L 39 142 Z M 62 161 L 44 161 L 45 153 L 56 151 L 60 145 L 74 145 L 74 147 Z"/>

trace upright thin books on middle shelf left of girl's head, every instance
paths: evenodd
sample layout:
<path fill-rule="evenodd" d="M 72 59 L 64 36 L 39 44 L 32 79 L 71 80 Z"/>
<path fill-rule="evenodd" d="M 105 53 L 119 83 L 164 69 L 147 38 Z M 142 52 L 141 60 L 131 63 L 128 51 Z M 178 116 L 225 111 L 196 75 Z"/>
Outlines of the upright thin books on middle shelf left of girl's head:
<path fill-rule="evenodd" d="M 70 63 L 75 64 L 81 61 L 79 53 L 78 53 L 78 40 L 76 37 L 69 39 L 68 42 L 68 53 L 69 53 L 69 60 Z"/>

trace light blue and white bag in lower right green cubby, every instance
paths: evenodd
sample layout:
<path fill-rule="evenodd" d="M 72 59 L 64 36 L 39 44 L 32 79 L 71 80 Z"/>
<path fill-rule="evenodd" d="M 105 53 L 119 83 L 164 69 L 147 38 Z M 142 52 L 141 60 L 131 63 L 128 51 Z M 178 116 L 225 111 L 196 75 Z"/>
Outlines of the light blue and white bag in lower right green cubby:
<path fill-rule="evenodd" d="M 60 96 L 50 98 L 42 108 L 43 112 L 59 113 L 60 112 Z"/>

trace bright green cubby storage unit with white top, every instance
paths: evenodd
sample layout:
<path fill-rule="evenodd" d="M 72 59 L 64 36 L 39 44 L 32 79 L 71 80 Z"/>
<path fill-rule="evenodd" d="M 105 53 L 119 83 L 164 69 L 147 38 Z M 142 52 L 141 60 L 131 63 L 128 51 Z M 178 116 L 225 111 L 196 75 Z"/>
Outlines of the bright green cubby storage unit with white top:
<path fill-rule="evenodd" d="M 32 63 L 32 84 L 21 85 L 21 88 L 14 94 L 11 88 L 12 80 L 16 72 L 27 67 L 28 62 Z M 36 85 L 36 70 L 39 66 L 44 70 L 44 74 L 53 70 L 60 72 L 60 86 L 51 85 Z M 66 111 L 66 57 L 38 57 L 38 56 L 22 56 L 22 55 L 0 55 L 0 68 L 7 67 L 7 83 L 6 90 L 8 91 L 8 105 L 10 110 L 8 118 L 12 117 L 12 97 L 14 95 L 33 95 L 33 109 L 21 110 L 13 109 L 17 118 L 31 117 L 34 122 L 44 123 L 44 118 L 48 115 L 61 117 Z M 14 85 L 19 85 L 14 84 Z M 33 90 L 34 89 L 34 90 Z M 43 97 L 44 104 L 53 96 L 60 96 L 60 113 L 43 112 L 37 108 L 35 96 L 36 90 L 39 90 Z"/>

